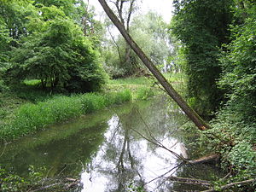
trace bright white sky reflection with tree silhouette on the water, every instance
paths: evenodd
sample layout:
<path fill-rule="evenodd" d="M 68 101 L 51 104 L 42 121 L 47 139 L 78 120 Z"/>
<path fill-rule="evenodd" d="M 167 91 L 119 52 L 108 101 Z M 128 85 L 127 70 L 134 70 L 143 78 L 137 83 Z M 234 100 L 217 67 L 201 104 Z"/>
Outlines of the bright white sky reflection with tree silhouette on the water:
<path fill-rule="evenodd" d="M 137 110 L 130 116 L 134 117 L 135 112 Z M 130 183 L 144 185 L 147 191 L 160 191 L 160 183 L 155 178 L 176 175 L 175 167 L 180 162 L 166 149 L 154 146 L 133 131 L 145 133 L 141 125 L 138 121 L 134 124 L 129 114 L 125 118 L 113 115 L 108 120 L 105 142 L 81 174 L 83 192 L 126 191 Z M 166 148 L 186 156 L 183 143 L 167 133 L 160 141 Z"/>

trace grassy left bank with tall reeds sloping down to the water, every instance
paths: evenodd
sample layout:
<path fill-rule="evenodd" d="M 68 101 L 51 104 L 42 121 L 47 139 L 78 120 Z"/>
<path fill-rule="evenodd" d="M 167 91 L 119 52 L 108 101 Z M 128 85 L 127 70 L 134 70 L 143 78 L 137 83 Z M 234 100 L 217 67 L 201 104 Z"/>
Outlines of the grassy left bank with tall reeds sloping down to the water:
<path fill-rule="evenodd" d="M 159 90 L 145 77 L 109 80 L 100 92 L 63 95 L 40 90 L 37 81 L 1 93 L 0 140 L 7 142 L 76 118 L 132 100 L 145 100 Z"/>

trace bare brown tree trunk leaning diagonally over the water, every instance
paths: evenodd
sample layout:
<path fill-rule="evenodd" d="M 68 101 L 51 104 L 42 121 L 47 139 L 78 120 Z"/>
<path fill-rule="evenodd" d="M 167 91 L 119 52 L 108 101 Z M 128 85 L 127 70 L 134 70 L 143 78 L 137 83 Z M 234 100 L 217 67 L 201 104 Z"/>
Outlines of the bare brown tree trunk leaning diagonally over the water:
<path fill-rule="evenodd" d="M 149 71 L 153 73 L 154 77 L 160 82 L 160 84 L 164 87 L 166 92 L 172 99 L 177 102 L 177 105 L 183 109 L 183 112 L 187 114 L 189 119 L 191 119 L 195 125 L 200 130 L 206 130 L 209 126 L 206 122 L 201 119 L 201 117 L 195 113 L 195 111 L 189 107 L 188 103 L 183 100 L 183 98 L 177 93 L 176 90 L 173 89 L 172 84 L 169 84 L 166 78 L 162 73 L 154 66 L 153 62 L 148 59 L 148 56 L 144 54 L 143 50 L 136 44 L 136 42 L 131 38 L 130 34 L 126 32 L 125 26 L 120 22 L 118 17 L 113 14 L 113 11 L 108 7 L 108 3 L 105 0 L 98 0 L 99 3 L 102 4 L 102 8 L 113 21 L 113 24 L 119 29 L 119 32 L 125 38 L 125 41 L 131 46 L 131 49 L 139 56 L 139 58 L 143 61 L 144 65 L 148 67 Z"/>

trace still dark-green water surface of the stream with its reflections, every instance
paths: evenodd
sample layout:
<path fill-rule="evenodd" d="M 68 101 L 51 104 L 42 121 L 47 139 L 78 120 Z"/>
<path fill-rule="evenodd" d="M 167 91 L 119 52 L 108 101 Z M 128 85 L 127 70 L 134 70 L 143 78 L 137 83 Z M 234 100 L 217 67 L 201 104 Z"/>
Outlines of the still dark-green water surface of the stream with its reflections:
<path fill-rule="evenodd" d="M 187 120 L 165 97 L 128 103 L 2 146 L 0 164 L 23 177 L 33 166 L 45 167 L 48 177 L 80 178 L 75 191 L 134 191 L 142 185 L 146 191 L 200 190 L 168 176 L 212 179 L 221 175 L 217 167 L 181 166 L 173 154 L 153 144 L 184 157 L 195 154 L 187 149 L 188 134 L 179 129 Z"/>

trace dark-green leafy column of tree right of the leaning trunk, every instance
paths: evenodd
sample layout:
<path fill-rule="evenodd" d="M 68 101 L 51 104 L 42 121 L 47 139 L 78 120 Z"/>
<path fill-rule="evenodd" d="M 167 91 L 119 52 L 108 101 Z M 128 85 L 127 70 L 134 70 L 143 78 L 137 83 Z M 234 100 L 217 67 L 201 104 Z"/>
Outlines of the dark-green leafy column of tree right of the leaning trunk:
<path fill-rule="evenodd" d="M 229 42 L 232 1 L 174 1 L 172 33 L 183 43 L 191 104 L 201 115 L 218 108 L 223 91 L 216 80 L 221 73 L 219 48 Z"/>

